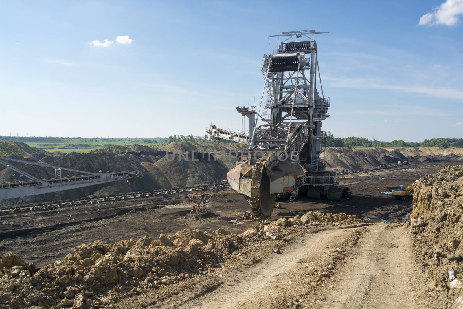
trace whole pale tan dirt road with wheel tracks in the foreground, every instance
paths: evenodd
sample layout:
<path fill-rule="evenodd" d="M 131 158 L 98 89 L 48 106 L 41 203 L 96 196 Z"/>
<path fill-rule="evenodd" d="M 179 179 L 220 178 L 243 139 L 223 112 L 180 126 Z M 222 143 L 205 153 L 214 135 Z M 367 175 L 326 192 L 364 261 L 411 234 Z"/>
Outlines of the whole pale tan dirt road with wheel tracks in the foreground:
<path fill-rule="evenodd" d="M 225 263 L 188 287 L 134 296 L 109 307 L 429 308 L 414 282 L 419 271 L 406 228 L 377 223 L 300 234 L 282 246 L 282 254 L 265 248 L 266 254 L 262 249 L 254 256 L 255 263 Z M 358 241 L 346 241 L 352 235 Z"/>

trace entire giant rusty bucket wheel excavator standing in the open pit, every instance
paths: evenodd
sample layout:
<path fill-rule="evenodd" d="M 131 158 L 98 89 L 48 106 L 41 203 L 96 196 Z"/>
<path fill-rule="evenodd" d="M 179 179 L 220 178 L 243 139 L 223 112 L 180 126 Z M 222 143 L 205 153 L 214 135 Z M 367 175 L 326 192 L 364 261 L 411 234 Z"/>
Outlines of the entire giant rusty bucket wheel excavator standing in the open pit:
<path fill-rule="evenodd" d="M 212 124 L 206 130 L 215 139 L 248 145 L 238 165 L 227 173 L 227 180 L 246 197 L 256 219 L 270 216 L 277 195 L 290 194 L 290 200 L 304 194 L 339 201 L 352 194 L 338 185 L 336 172 L 325 168 L 330 132 L 321 131 L 321 125 L 329 117 L 330 100 L 323 94 L 317 43 L 311 38 L 319 33 L 328 32 L 291 31 L 270 36 L 280 37 L 281 43 L 273 54 L 263 57 L 259 108 L 237 107 L 249 120 L 249 130 L 232 132 Z M 317 73 L 321 95 L 316 89 Z M 259 118 L 263 124 L 257 126 Z"/>

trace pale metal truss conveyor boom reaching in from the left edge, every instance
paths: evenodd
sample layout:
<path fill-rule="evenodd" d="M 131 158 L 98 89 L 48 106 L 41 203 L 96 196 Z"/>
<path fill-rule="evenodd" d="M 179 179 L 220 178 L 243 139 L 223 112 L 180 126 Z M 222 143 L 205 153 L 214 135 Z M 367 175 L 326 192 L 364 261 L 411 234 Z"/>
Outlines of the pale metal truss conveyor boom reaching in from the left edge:
<path fill-rule="evenodd" d="M 42 167 L 55 169 L 55 178 L 38 179 L 25 171 L 19 169 L 9 162 L 18 162 L 22 164 L 31 164 Z M 69 189 L 88 187 L 96 184 L 110 183 L 118 180 L 129 180 L 137 177 L 142 177 L 143 172 L 140 170 L 131 170 L 112 173 L 91 173 L 83 170 L 73 170 L 64 167 L 57 167 L 49 164 L 30 162 L 12 158 L 0 157 L 0 164 L 7 168 L 20 173 L 21 176 L 29 178 L 28 181 L 14 181 L 9 183 L 0 183 L 0 200 L 23 197 L 30 195 L 39 195 Z M 61 171 L 68 170 L 76 173 L 86 174 L 82 176 L 62 177 Z"/>

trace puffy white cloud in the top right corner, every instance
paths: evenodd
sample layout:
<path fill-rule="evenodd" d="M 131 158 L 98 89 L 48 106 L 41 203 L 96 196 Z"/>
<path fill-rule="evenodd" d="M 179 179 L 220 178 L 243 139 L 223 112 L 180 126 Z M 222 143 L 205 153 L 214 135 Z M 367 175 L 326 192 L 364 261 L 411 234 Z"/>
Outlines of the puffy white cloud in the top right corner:
<path fill-rule="evenodd" d="M 431 13 L 420 17 L 418 25 L 458 25 L 458 15 L 463 14 L 463 0 L 446 0 L 440 6 L 433 7 Z"/>

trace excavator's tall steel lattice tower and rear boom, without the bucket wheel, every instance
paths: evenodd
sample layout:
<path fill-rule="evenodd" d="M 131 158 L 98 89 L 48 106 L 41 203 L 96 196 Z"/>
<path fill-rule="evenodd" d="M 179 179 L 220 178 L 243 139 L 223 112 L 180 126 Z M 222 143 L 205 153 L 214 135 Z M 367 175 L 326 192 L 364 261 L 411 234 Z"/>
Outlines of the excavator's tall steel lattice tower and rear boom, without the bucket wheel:
<path fill-rule="evenodd" d="M 255 113 L 265 122 L 263 125 L 257 126 L 256 118 L 249 126 L 249 135 L 215 125 L 206 132 L 217 139 L 248 144 L 250 151 L 281 151 L 292 158 L 296 156 L 307 170 L 307 184 L 330 185 L 337 181 L 334 173 L 325 171 L 325 142 L 329 132 L 321 131 L 322 121 L 329 117 L 330 100 L 321 87 L 317 43 L 309 37 L 319 33 L 328 32 L 306 30 L 270 36 L 281 37 L 282 42 L 273 54 L 264 55 L 262 61 L 264 87 Z M 316 88 L 317 79 L 322 95 Z M 240 112 L 240 107 L 237 109 Z M 331 175 L 328 181 L 327 175 Z"/>

